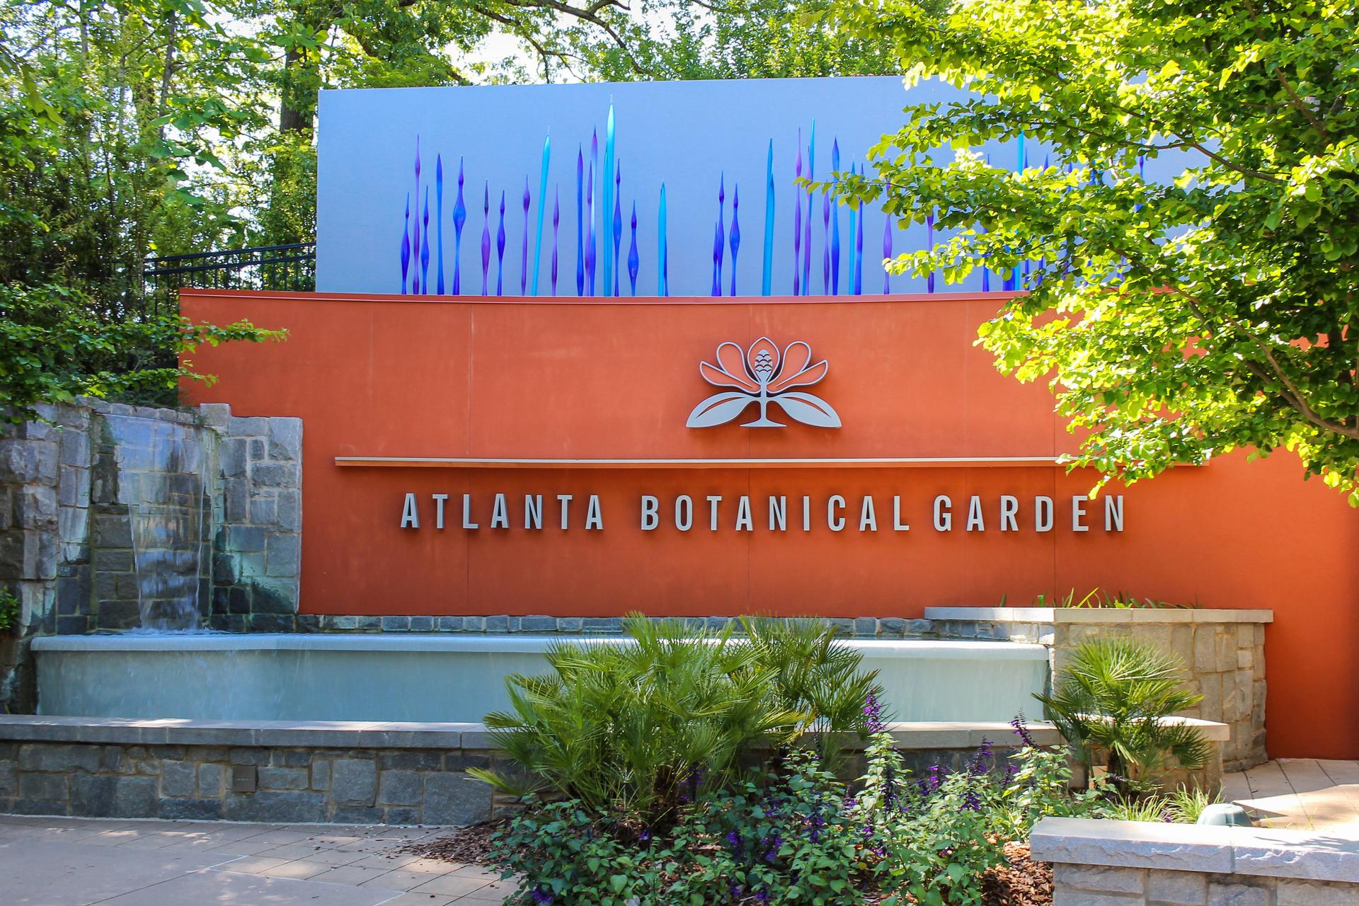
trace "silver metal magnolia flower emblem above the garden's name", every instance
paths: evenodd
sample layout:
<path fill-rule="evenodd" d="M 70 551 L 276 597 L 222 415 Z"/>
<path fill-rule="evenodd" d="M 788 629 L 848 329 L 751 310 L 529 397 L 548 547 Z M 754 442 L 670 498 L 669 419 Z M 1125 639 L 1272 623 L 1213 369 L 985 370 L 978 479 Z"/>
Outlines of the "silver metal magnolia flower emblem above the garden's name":
<path fill-rule="evenodd" d="M 707 361 L 699 365 L 699 374 L 709 384 L 735 387 L 708 397 L 689 413 L 689 428 L 712 428 L 733 421 L 750 403 L 760 403 L 760 418 L 747 421 L 742 428 L 784 428 L 771 421 L 769 403 L 776 403 L 790 418 L 817 428 L 839 428 L 840 416 L 825 399 L 794 387 L 807 387 L 826 376 L 830 365 L 822 359 L 811 363 L 811 346 L 798 341 L 779 355 L 779 346 L 768 337 L 761 337 L 742 350 L 734 342 L 718 346 L 718 364 Z"/>

